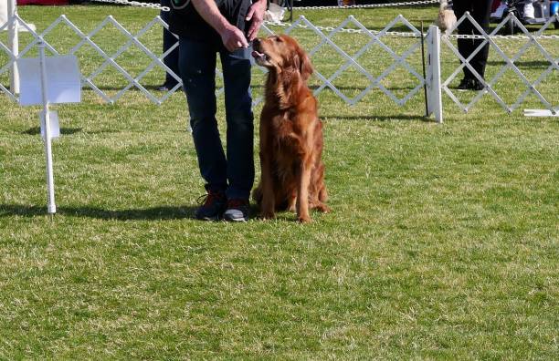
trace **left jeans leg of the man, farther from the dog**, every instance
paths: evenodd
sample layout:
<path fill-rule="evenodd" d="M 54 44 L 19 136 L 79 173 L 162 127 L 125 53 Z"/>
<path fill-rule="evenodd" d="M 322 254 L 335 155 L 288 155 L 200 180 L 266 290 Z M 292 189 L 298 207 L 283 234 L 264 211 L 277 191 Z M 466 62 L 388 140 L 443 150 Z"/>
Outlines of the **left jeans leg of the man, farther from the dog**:
<path fill-rule="evenodd" d="M 206 190 L 227 189 L 227 160 L 216 121 L 216 48 L 181 37 L 179 67 L 185 88 L 190 125 Z"/>

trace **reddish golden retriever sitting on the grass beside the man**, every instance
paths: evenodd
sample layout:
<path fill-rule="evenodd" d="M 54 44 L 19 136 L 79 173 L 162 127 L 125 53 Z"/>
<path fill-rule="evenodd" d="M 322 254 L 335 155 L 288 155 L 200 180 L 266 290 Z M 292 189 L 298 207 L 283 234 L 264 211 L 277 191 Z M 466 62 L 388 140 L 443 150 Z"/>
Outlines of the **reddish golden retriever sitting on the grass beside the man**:
<path fill-rule="evenodd" d="M 311 60 L 290 36 L 256 39 L 252 56 L 269 70 L 260 115 L 261 179 L 252 196 L 263 219 L 275 211 L 297 211 L 311 222 L 310 209 L 329 211 L 322 162 L 322 121 L 307 80 Z"/>

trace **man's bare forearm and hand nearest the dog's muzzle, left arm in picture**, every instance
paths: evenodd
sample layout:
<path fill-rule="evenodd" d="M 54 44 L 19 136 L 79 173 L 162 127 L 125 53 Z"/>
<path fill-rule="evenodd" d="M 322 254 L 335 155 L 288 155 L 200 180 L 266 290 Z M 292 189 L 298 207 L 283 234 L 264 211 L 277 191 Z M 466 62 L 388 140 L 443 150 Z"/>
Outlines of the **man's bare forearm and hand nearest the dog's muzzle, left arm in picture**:
<path fill-rule="evenodd" d="M 221 36 L 223 45 L 229 51 L 240 47 L 248 47 L 247 38 L 237 26 L 229 24 L 224 15 L 221 15 L 214 0 L 192 0 L 196 11 L 207 24 L 212 26 Z"/>

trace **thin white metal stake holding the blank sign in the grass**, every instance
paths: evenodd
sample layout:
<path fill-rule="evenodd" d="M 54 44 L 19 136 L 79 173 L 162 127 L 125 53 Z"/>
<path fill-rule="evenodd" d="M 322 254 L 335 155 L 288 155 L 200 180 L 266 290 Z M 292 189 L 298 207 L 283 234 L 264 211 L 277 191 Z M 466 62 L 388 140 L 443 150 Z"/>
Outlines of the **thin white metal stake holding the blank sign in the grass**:
<path fill-rule="evenodd" d="M 57 212 L 57 205 L 54 197 L 54 175 L 52 171 L 52 143 L 50 139 L 50 115 L 48 114 L 48 94 L 47 94 L 47 57 L 45 57 L 45 43 L 41 40 L 38 43 L 39 64 L 41 67 L 41 94 L 43 97 L 43 113 L 45 119 L 45 155 L 47 157 L 47 211 L 50 214 Z"/>

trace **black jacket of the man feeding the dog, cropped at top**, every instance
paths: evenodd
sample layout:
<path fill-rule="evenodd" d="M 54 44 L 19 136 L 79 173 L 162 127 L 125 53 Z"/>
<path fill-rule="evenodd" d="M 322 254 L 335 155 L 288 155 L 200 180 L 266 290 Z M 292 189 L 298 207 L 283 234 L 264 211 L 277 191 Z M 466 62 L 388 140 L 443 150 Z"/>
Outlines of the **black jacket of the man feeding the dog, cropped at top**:
<path fill-rule="evenodd" d="M 248 22 L 245 17 L 248 8 L 252 4 L 251 0 L 214 0 L 222 15 L 227 21 L 237 26 L 245 34 L 248 31 Z M 177 9 L 176 3 L 172 1 L 171 14 L 169 16 L 169 30 L 174 34 L 193 40 L 208 42 L 216 45 L 221 44 L 221 37 L 212 26 L 206 23 L 202 16 L 198 15 L 194 5 L 186 5 L 182 9 Z"/>

